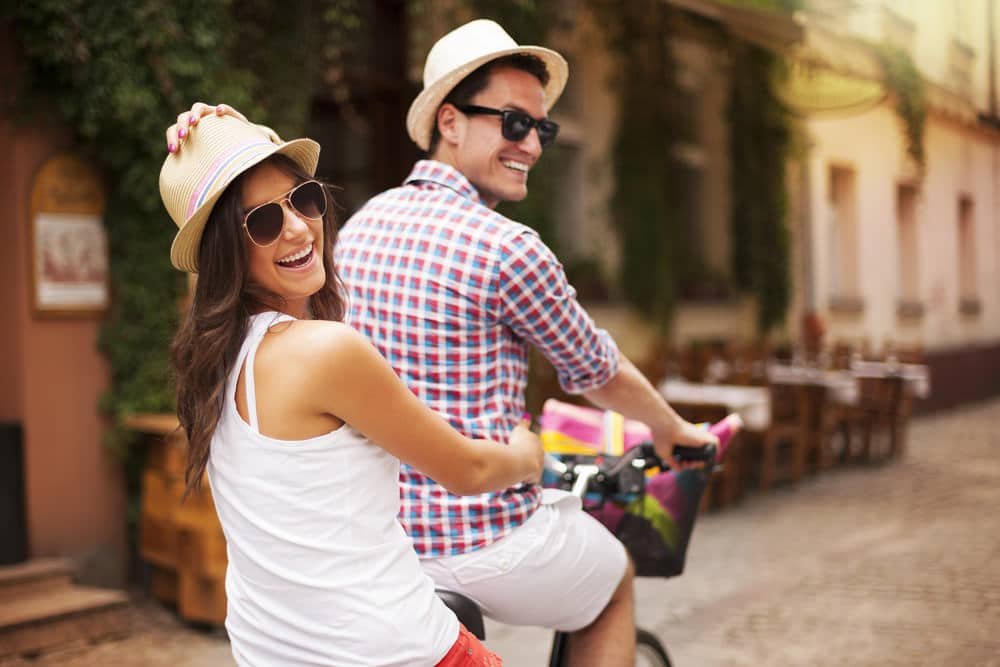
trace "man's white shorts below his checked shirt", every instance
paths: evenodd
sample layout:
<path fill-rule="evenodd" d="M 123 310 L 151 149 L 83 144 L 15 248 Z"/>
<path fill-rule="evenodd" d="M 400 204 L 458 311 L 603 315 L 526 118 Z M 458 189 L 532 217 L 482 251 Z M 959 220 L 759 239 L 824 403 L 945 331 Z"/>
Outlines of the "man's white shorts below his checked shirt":
<path fill-rule="evenodd" d="M 538 511 L 503 539 L 420 564 L 438 588 L 471 598 L 501 623 L 573 632 L 607 606 L 627 556 L 579 498 L 545 489 Z"/>

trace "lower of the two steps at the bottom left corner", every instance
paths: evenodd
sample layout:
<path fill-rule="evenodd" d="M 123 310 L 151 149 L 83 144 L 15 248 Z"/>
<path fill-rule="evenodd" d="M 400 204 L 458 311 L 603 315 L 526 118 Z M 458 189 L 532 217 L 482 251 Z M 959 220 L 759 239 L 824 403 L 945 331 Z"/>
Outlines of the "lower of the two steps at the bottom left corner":
<path fill-rule="evenodd" d="M 0 659 L 128 631 L 128 596 L 122 591 L 67 584 L 0 598 Z"/>

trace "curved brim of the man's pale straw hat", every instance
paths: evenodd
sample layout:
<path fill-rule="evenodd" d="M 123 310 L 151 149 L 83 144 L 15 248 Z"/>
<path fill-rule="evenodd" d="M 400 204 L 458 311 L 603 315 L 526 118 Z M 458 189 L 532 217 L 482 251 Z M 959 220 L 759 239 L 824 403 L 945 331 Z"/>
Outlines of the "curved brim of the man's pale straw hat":
<path fill-rule="evenodd" d="M 566 87 L 566 80 L 569 76 L 569 66 L 566 64 L 566 59 L 552 49 L 546 49 L 542 46 L 518 46 L 494 51 L 453 69 L 417 95 L 406 114 L 406 132 L 410 135 L 413 143 L 421 150 L 429 150 L 438 107 L 462 79 L 488 62 L 517 54 L 535 56 L 545 63 L 545 68 L 549 73 L 549 82 L 545 86 L 545 112 L 548 113 Z"/>

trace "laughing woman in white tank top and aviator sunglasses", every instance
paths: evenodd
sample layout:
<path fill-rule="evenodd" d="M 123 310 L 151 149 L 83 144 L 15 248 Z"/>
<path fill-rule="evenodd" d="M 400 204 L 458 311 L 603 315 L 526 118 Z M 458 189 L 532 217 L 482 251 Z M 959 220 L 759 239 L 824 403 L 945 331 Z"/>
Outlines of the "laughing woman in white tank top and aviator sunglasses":
<path fill-rule="evenodd" d="M 476 494 L 537 479 L 538 439 L 463 437 L 339 322 L 318 144 L 232 115 L 184 134 L 160 174 L 171 261 L 199 274 L 174 342 L 178 415 L 188 487 L 207 471 L 226 535 L 236 661 L 500 664 L 419 567 L 396 520 L 399 461 Z"/>

